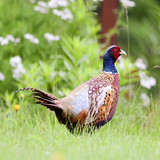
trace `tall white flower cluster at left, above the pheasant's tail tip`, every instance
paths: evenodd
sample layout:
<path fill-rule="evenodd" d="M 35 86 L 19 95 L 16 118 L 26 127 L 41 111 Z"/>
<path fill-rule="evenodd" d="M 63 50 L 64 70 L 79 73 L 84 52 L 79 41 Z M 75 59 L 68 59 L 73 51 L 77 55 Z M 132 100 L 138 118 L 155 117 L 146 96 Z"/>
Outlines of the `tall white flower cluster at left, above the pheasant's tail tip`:
<path fill-rule="evenodd" d="M 10 58 L 10 65 L 12 66 L 13 78 L 17 80 L 19 80 L 22 77 L 22 75 L 25 73 L 25 69 L 21 61 L 22 60 L 20 56 L 15 56 Z"/>

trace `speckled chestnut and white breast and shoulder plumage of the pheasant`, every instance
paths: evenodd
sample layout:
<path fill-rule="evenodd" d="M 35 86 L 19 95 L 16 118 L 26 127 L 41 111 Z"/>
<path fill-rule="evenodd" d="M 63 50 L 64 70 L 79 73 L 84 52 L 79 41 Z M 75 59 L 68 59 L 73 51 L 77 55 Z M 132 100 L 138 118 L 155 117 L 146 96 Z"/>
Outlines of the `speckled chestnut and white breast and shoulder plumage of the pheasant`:
<path fill-rule="evenodd" d="M 114 113 L 111 110 L 116 108 L 119 99 L 118 73 L 102 72 L 99 76 L 91 79 L 88 84 L 90 107 L 86 122 L 93 122 L 96 125 L 102 121 L 106 123 L 113 117 Z"/>

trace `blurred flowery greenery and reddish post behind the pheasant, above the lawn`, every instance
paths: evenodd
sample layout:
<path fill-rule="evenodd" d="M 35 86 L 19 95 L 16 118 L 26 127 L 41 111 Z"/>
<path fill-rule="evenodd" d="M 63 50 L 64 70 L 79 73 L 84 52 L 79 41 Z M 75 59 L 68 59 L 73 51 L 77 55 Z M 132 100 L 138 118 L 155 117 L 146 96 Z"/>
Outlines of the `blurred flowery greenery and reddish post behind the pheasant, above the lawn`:
<path fill-rule="evenodd" d="M 0 107 L 14 110 L 24 98 L 15 91 L 27 86 L 59 98 L 69 94 L 101 73 L 103 54 L 117 44 L 128 54 L 116 64 L 119 105 L 136 118 L 139 109 L 146 119 L 151 112 L 157 117 L 159 5 L 159 0 L 1 0 Z"/>

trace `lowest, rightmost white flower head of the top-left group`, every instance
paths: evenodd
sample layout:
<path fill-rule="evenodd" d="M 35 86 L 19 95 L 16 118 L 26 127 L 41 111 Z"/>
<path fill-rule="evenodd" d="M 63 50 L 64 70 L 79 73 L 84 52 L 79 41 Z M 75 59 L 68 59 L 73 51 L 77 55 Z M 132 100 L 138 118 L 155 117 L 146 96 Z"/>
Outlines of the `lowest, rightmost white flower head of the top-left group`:
<path fill-rule="evenodd" d="M 58 10 L 58 9 L 54 9 L 53 14 L 60 16 L 61 19 L 63 19 L 63 20 L 73 19 L 73 14 L 68 8 L 65 8 L 62 11 Z"/>

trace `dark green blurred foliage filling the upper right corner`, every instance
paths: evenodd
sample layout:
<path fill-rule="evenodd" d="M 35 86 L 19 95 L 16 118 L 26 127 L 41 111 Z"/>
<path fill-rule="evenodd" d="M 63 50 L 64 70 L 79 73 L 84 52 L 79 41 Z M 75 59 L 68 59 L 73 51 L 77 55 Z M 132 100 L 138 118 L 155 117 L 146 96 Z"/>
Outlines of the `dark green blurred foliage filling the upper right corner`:
<path fill-rule="evenodd" d="M 128 9 L 130 56 L 132 60 L 142 58 L 148 64 L 150 74 L 159 79 L 159 69 L 153 67 L 160 64 L 160 2 L 158 0 L 135 0 L 135 2 L 136 6 Z M 119 12 L 118 28 L 119 44 L 127 50 L 125 9 Z M 154 90 L 158 92 L 158 88 Z"/>

